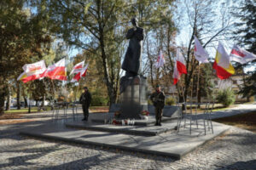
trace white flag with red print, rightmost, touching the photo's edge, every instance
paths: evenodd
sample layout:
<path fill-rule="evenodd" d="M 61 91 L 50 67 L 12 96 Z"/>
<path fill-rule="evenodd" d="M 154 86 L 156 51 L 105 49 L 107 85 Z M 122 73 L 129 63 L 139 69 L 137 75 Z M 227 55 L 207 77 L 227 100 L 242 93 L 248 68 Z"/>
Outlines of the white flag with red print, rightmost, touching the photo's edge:
<path fill-rule="evenodd" d="M 246 64 L 247 62 L 250 62 L 252 60 L 256 59 L 256 55 L 247 52 L 247 50 L 244 50 L 237 45 L 234 45 L 234 47 L 231 50 L 230 53 L 230 60 L 236 61 L 243 64 Z"/>

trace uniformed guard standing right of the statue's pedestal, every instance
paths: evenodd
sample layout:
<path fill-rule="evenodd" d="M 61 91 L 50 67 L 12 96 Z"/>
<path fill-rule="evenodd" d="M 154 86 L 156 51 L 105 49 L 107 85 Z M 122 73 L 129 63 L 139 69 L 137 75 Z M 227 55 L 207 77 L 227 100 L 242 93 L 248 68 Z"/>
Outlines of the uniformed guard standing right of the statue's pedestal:
<path fill-rule="evenodd" d="M 160 85 L 156 86 L 156 90 L 150 96 L 151 101 L 154 104 L 155 124 L 154 126 L 161 126 L 161 120 L 163 115 L 163 108 L 166 103 L 166 95 L 161 91 Z"/>

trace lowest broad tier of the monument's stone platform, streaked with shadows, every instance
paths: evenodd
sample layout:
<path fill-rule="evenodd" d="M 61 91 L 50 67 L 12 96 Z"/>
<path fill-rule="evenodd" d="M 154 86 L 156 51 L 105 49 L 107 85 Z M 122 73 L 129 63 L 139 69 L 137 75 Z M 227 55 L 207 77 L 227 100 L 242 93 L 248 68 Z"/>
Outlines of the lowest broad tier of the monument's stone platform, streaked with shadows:
<path fill-rule="evenodd" d="M 213 122 L 213 126 L 214 133 L 207 131 L 207 135 L 204 135 L 204 129 L 200 126 L 199 129 L 194 128 L 192 134 L 189 134 L 188 128 L 183 128 L 178 134 L 172 132 L 144 137 L 124 133 L 67 128 L 64 123 L 50 123 L 45 124 L 43 127 L 34 128 L 30 131 L 21 131 L 20 133 L 44 139 L 57 139 L 77 144 L 94 144 L 181 159 L 189 151 L 195 150 L 201 144 L 205 144 L 208 140 L 215 138 L 230 128 L 217 122 Z M 163 127 L 168 127 L 168 123 L 163 123 Z"/>

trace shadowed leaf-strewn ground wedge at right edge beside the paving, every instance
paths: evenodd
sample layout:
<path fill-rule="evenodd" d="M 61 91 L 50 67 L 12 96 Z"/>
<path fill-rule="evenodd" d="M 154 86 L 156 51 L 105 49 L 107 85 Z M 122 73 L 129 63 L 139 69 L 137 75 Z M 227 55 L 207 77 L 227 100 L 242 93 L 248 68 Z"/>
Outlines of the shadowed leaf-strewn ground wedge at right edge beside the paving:
<path fill-rule="evenodd" d="M 218 118 L 212 121 L 224 123 L 235 127 L 241 127 L 252 131 L 253 133 L 256 133 L 256 111 L 236 116 Z"/>

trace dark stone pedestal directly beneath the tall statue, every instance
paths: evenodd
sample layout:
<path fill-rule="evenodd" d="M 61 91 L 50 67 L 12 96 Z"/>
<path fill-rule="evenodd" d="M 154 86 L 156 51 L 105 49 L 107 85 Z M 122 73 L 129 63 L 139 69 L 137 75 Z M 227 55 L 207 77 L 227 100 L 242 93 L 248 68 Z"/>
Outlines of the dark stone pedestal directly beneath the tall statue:
<path fill-rule="evenodd" d="M 126 83 L 120 94 L 120 118 L 140 119 L 139 114 L 148 110 L 147 79 L 145 77 L 122 77 Z"/>

